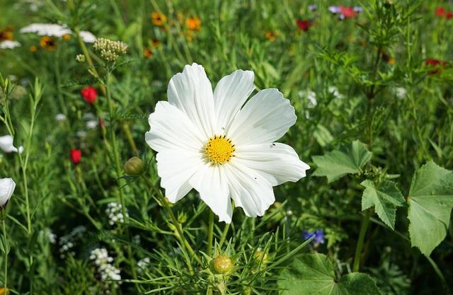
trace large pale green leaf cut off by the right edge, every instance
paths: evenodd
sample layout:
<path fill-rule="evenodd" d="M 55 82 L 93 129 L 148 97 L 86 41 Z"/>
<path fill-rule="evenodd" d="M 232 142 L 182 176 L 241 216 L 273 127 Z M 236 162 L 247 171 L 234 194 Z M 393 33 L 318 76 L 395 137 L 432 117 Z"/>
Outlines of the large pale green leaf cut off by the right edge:
<path fill-rule="evenodd" d="M 453 208 L 453 172 L 430 161 L 415 171 L 409 190 L 409 234 L 429 256 L 447 236 Z"/>

